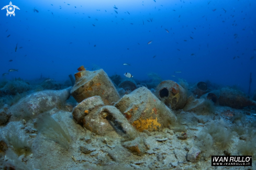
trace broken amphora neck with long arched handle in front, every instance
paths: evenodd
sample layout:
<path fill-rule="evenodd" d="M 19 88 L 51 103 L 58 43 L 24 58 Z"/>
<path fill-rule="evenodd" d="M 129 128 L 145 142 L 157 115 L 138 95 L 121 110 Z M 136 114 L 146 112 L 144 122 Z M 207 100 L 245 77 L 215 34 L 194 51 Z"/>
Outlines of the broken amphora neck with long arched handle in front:
<path fill-rule="evenodd" d="M 123 128 L 122 130 L 130 139 L 137 137 L 137 131 L 114 106 L 103 106 L 97 112 L 89 112 L 84 117 L 83 125 L 86 129 L 98 135 L 116 134 L 118 128 Z M 113 128 L 115 126 L 118 127 Z"/>

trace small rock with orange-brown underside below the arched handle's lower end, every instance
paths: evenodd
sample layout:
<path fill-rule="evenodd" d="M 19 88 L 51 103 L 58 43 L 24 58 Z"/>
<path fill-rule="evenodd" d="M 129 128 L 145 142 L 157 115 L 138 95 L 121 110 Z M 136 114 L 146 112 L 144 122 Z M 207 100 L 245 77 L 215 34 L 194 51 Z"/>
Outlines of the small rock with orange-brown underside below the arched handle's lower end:
<path fill-rule="evenodd" d="M 132 141 L 124 142 L 123 146 L 129 149 L 132 153 L 142 155 L 146 152 L 146 146 L 144 145 L 143 139 L 140 137 Z"/>

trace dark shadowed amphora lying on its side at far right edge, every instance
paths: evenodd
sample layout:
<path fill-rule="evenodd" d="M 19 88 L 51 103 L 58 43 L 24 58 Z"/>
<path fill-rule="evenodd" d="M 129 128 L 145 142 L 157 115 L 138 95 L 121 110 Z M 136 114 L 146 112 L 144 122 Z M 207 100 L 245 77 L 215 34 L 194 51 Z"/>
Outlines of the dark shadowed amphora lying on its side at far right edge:
<path fill-rule="evenodd" d="M 219 105 L 241 109 L 247 106 L 255 106 L 256 102 L 251 100 L 246 94 L 231 88 L 221 88 L 219 95 Z"/>

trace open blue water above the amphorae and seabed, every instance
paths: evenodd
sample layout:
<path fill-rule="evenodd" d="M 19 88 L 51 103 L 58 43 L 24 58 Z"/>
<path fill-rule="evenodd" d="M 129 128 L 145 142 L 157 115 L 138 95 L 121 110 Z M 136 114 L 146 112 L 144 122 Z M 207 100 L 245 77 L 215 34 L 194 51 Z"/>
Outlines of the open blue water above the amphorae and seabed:
<path fill-rule="evenodd" d="M 15 16 L 0 11 L 0 73 L 18 72 L 1 78 L 42 74 L 68 80 L 84 65 L 109 76 L 129 72 L 146 80 L 154 72 L 163 80 L 209 80 L 248 93 L 251 72 L 253 92 L 255 1 L 155 1 L 12 1 L 20 8 Z M 9 1 L 0 2 L 6 5 Z"/>

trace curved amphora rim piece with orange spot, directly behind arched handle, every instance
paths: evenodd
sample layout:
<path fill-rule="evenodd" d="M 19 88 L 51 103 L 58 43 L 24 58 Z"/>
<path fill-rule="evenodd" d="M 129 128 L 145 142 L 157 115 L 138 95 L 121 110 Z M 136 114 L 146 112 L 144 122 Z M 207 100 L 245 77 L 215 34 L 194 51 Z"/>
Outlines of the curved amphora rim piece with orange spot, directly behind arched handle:
<path fill-rule="evenodd" d="M 89 114 L 89 112 L 92 114 L 102 106 L 104 106 L 104 103 L 101 97 L 93 96 L 86 98 L 73 109 L 73 118 L 77 121 L 77 123 L 81 124 L 83 123 L 84 117 Z"/>

